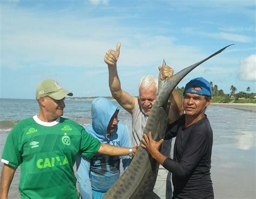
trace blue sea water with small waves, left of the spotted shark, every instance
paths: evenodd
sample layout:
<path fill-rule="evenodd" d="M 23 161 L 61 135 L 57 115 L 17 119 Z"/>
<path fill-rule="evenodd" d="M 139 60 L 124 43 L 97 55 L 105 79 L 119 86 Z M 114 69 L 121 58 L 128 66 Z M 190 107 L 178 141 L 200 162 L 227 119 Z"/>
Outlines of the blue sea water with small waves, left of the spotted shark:
<path fill-rule="evenodd" d="M 91 123 L 92 100 L 65 100 L 64 116 L 75 120 L 80 125 L 86 126 Z M 125 111 L 116 101 L 113 103 L 120 109 L 118 119 L 131 125 L 129 113 Z M 1 99 L 0 98 L 0 131 L 10 131 L 19 121 L 38 113 L 39 107 L 36 100 Z M 131 126 L 129 126 L 131 129 Z"/>

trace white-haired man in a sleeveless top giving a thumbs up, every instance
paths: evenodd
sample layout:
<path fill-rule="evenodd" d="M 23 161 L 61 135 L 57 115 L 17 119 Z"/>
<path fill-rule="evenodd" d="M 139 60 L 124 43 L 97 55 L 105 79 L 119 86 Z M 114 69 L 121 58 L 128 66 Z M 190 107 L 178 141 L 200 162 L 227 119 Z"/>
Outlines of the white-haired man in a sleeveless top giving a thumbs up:
<path fill-rule="evenodd" d="M 140 144 L 140 140 L 143 137 L 143 131 L 146 126 L 147 118 L 150 115 L 151 108 L 154 104 L 154 101 L 157 98 L 158 93 L 158 81 L 152 75 L 147 75 L 142 77 L 142 80 L 139 83 L 139 98 L 131 96 L 126 91 L 122 90 L 120 80 L 117 74 L 117 60 L 120 54 L 120 46 L 118 43 L 116 46 L 116 51 L 110 49 L 106 52 L 104 61 L 109 68 L 109 87 L 112 96 L 117 100 L 117 102 L 128 112 L 131 113 L 132 116 L 132 146 L 136 146 Z M 170 77 L 173 73 L 172 68 L 165 65 L 163 68 L 159 67 L 161 80 L 164 80 L 166 77 Z M 172 95 L 170 96 L 170 111 L 169 111 L 169 122 L 177 120 L 181 115 L 183 115 L 183 106 L 181 103 L 181 96 L 178 94 L 177 90 L 174 90 Z M 166 140 L 162 152 L 170 157 L 171 152 L 171 140 Z M 162 167 L 163 168 L 163 167 Z M 165 170 L 166 171 L 166 170 Z M 159 169 L 159 173 L 161 173 L 161 168 Z M 165 187 L 165 180 L 167 171 L 164 172 L 163 177 L 158 175 L 158 179 L 156 182 L 156 186 L 154 188 L 154 192 L 157 193 L 160 189 L 157 187 Z M 163 191 L 160 191 L 163 194 Z M 158 193 L 157 193 L 158 194 Z M 171 188 L 171 176 L 167 176 L 166 181 L 166 198 L 170 198 L 172 195 Z"/>

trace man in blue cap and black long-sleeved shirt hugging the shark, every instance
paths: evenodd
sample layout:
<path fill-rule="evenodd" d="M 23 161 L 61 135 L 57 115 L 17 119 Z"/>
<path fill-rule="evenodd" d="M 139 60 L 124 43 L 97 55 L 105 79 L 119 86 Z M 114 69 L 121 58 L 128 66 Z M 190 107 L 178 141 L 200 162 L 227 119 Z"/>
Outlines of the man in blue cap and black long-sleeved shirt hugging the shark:
<path fill-rule="evenodd" d="M 159 152 L 163 139 L 155 142 L 144 134 L 143 147 L 159 164 L 172 172 L 173 198 L 213 198 L 211 181 L 212 129 L 205 115 L 212 89 L 202 77 L 184 89 L 185 114 L 169 125 L 165 139 L 176 137 L 173 159 Z"/>

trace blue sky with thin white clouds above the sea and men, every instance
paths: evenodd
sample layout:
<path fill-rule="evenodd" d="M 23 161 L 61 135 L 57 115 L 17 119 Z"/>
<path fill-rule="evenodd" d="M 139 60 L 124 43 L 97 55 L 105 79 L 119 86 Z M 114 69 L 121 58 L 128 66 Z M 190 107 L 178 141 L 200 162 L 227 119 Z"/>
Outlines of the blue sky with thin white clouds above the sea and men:
<path fill-rule="evenodd" d="M 121 43 L 122 89 L 138 95 L 163 59 L 174 73 L 233 46 L 192 70 L 224 93 L 256 93 L 254 0 L 0 1 L 0 98 L 35 98 L 54 79 L 75 97 L 111 96 L 105 53 Z"/>

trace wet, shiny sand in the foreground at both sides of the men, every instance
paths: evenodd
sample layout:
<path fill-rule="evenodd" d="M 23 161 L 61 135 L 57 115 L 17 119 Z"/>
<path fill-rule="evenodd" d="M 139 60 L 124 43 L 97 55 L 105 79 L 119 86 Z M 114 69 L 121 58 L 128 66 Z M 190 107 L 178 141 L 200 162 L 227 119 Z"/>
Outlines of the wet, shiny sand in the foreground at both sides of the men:
<path fill-rule="evenodd" d="M 7 134 L 0 134 L 1 154 Z M 234 145 L 235 143 L 213 146 L 211 176 L 214 198 L 256 198 L 255 147 L 252 150 L 239 150 Z M 1 163 L 1 171 L 2 165 Z M 20 198 L 19 175 L 18 168 L 9 191 L 11 199 Z M 163 192 L 158 190 L 158 193 Z"/>

